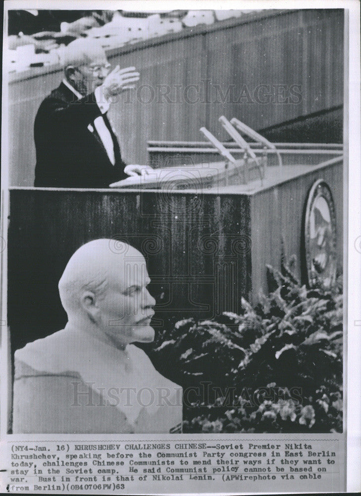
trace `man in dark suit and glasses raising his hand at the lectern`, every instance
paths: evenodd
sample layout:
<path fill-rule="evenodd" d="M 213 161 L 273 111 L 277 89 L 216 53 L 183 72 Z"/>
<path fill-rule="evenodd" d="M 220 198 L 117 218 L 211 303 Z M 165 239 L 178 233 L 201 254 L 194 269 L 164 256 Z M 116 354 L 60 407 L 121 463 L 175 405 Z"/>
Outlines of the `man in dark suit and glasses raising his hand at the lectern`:
<path fill-rule="evenodd" d="M 34 186 L 101 188 L 146 166 L 125 166 L 107 111 L 135 87 L 135 67 L 110 71 L 103 48 L 79 38 L 63 53 L 64 78 L 40 105 L 34 124 Z"/>

